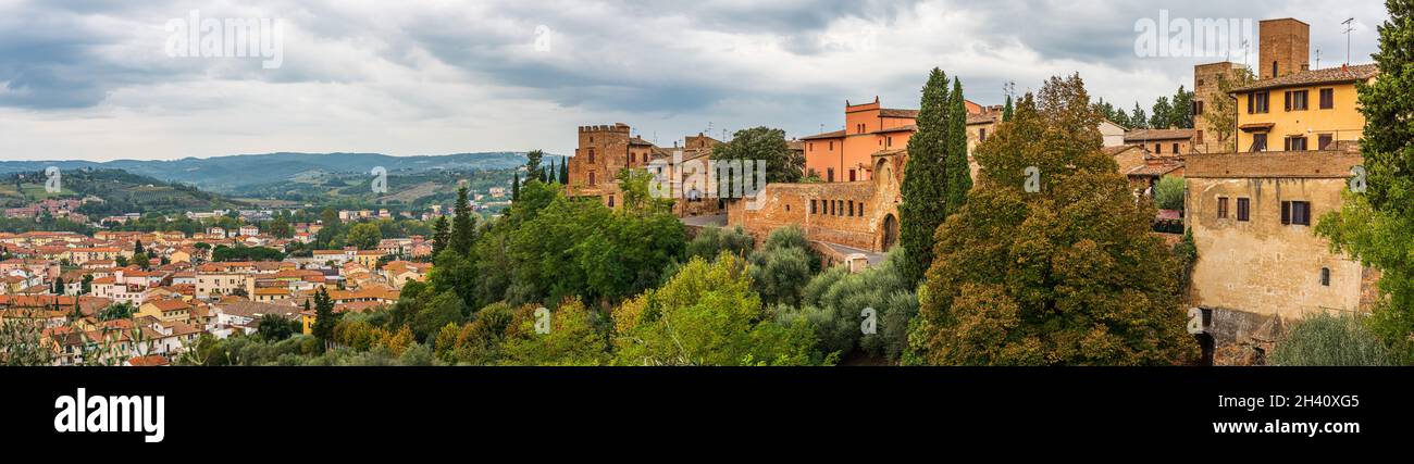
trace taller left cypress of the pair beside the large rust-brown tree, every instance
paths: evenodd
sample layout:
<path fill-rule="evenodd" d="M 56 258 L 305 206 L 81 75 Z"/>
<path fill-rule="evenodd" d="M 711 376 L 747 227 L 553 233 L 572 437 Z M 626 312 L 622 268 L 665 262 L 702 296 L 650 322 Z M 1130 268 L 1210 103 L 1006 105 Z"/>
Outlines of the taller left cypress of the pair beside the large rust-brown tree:
<path fill-rule="evenodd" d="M 899 245 L 906 257 L 904 277 L 909 286 L 922 280 L 932 265 L 933 232 L 947 214 L 947 75 L 933 68 L 923 85 L 918 132 L 908 139 L 908 164 L 904 167 L 901 187 L 904 202 L 898 205 L 898 211 Z"/>

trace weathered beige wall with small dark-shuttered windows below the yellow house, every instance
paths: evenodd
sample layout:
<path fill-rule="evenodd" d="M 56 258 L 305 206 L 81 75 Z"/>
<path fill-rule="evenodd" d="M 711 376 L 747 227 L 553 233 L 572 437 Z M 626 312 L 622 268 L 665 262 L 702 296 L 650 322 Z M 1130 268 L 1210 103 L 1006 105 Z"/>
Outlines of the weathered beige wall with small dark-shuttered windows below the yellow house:
<path fill-rule="evenodd" d="M 1319 218 L 1340 208 L 1359 156 L 1331 151 L 1193 154 L 1188 157 L 1186 225 L 1198 245 L 1191 298 L 1195 306 L 1281 318 L 1314 311 L 1362 311 L 1367 272 L 1314 233 Z M 1227 198 L 1226 218 L 1219 216 Z M 1239 221 L 1237 202 L 1250 204 Z M 1311 204 L 1311 225 L 1282 224 L 1287 201 Z M 1324 284 L 1322 270 L 1329 272 Z"/>

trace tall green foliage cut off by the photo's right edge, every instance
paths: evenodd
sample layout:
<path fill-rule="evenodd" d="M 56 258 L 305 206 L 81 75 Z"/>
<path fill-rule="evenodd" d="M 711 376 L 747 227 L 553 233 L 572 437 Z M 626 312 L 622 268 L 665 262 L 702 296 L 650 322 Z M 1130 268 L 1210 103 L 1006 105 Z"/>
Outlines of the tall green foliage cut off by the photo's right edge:
<path fill-rule="evenodd" d="M 1380 76 L 1357 85 L 1365 115 L 1360 151 L 1367 171 L 1366 192 L 1345 194 L 1339 211 L 1328 212 L 1316 233 L 1366 266 L 1380 269 L 1381 298 L 1370 314 L 1373 330 L 1391 348 L 1396 364 L 1414 364 L 1414 3 L 1386 1 L 1390 18 L 1379 27 L 1373 55 Z"/>

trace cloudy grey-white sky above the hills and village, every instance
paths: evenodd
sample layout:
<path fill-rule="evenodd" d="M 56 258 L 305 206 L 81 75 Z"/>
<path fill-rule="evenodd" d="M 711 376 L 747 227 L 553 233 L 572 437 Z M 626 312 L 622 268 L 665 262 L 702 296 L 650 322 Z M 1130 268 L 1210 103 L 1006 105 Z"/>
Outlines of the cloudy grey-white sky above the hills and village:
<path fill-rule="evenodd" d="M 283 62 L 173 57 L 194 10 L 277 21 Z M 573 153 L 575 126 L 615 122 L 663 146 L 799 137 L 841 129 L 846 99 L 916 108 L 933 66 L 984 105 L 1079 72 L 1147 110 L 1220 61 L 1138 57 L 1135 23 L 1159 10 L 1304 20 L 1324 66 L 1345 61 L 1340 21 L 1369 62 L 1387 17 L 1377 0 L 0 0 L 0 158 Z"/>

